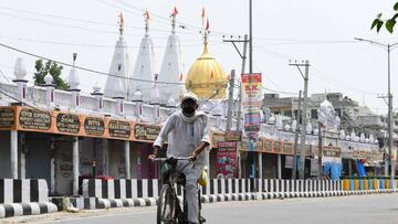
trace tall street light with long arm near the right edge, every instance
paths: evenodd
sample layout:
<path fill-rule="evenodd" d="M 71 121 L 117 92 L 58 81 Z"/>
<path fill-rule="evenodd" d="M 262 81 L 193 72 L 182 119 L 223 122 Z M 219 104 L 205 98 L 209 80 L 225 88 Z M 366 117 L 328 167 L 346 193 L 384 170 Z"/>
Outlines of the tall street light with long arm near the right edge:
<path fill-rule="evenodd" d="M 387 62 L 388 62 L 388 167 L 389 167 L 389 172 L 390 172 L 390 178 L 392 180 L 392 174 L 394 174 L 394 170 L 392 170 L 392 161 L 391 161 L 391 157 L 392 157 L 392 146 L 394 146 L 394 140 L 392 140 L 392 95 L 391 95 L 391 89 L 390 89 L 390 52 L 395 49 L 395 46 L 398 45 L 397 43 L 394 44 L 385 44 L 385 43 L 380 43 L 380 42 L 376 42 L 376 41 L 371 41 L 371 40 L 366 40 L 366 39 L 358 39 L 358 38 L 354 38 L 357 41 L 364 41 L 364 42 L 368 42 L 370 44 L 375 44 L 377 46 L 380 46 L 381 49 L 387 50 Z"/>

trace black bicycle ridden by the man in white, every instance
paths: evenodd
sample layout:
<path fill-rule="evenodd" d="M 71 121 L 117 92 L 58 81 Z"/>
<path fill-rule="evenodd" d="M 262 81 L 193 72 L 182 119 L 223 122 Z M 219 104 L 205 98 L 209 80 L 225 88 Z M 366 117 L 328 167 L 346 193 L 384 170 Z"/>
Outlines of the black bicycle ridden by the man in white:
<path fill-rule="evenodd" d="M 157 203 L 157 224 L 185 224 L 188 223 L 188 204 L 186 201 L 186 190 L 182 193 L 182 207 L 177 195 L 176 184 L 185 186 L 186 179 L 184 173 L 176 173 L 178 160 L 188 158 L 156 158 L 154 161 L 163 161 L 161 169 L 165 181 L 159 193 Z M 189 163 L 187 163 L 189 164 Z M 202 224 L 206 220 L 201 216 L 200 190 L 198 189 L 198 223 Z"/>

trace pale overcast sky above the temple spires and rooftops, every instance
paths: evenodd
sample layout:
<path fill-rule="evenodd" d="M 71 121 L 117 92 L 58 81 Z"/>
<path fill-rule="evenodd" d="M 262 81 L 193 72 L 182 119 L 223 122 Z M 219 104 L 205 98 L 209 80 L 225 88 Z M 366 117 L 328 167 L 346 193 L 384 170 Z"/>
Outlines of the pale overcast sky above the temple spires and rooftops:
<path fill-rule="evenodd" d="M 395 1 L 252 1 L 253 72 L 262 73 L 264 93 L 297 95 L 303 78 L 289 63 L 308 60 L 308 94 L 341 92 L 377 114 L 387 113 L 386 103 L 378 97 L 387 94 L 387 51 L 354 38 L 384 44 L 398 42 L 398 31 L 389 34 L 385 29 L 380 33 L 370 30 L 379 12 L 384 17 L 392 14 Z M 118 14 L 124 15 L 134 66 L 144 35 L 143 13 L 148 10 L 159 70 L 174 7 L 179 12 L 178 25 L 185 26 L 177 29 L 185 72 L 202 52 L 202 8 L 210 24 L 210 53 L 227 73 L 241 71 L 241 58 L 231 43 L 223 42 L 223 35 L 237 39 L 249 33 L 249 0 L 0 0 L 0 43 L 65 63 L 72 63 L 76 52 L 78 66 L 107 73 L 118 39 Z M 390 55 L 392 105 L 398 108 L 398 51 L 392 50 Z M 0 81 L 14 78 L 17 57 L 25 60 L 28 79 L 32 81 L 36 58 L 3 46 Z M 64 68 L 64 78 L 70 70 Z M 82 92 L 91 93 L 95 83 L 104 87 L 106 77 L 81 71 L 80 79 Z"/>

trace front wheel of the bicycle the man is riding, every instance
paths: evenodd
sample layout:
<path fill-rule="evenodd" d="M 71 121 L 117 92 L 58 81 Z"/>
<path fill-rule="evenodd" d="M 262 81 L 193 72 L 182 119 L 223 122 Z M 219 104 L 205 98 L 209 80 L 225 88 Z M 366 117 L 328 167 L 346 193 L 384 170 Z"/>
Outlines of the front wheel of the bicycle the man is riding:
<path fill-rule="evenodd" d="M 164 184 L 160 190 L 157 204 L 157 224 L 175 224 L 176 220 L 176 198 L 169 184 Z"/>

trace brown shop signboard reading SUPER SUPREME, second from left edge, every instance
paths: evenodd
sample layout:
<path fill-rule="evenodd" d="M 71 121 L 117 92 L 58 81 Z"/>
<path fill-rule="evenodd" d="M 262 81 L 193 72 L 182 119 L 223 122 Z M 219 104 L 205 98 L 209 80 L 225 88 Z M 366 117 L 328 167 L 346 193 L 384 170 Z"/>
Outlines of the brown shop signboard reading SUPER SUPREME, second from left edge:
<path fill-rule="evenodd" d="M 50 111 L 33 108 L 22 108 L 18 121 L 22 129 L 46 131 L 51 128 Z"/>

